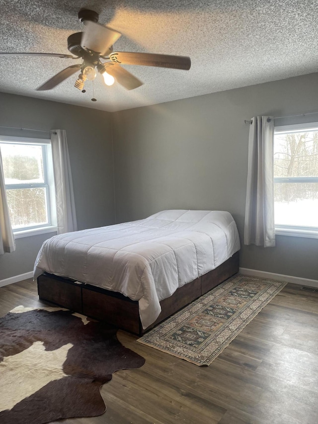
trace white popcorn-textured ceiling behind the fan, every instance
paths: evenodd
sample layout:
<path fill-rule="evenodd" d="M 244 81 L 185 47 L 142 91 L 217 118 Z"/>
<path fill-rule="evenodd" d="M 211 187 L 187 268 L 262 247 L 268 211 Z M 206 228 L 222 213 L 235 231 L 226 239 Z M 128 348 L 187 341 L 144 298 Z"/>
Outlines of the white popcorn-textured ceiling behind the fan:
<path fill-rule="evenodd" d="M 131 91 L 97 76 L 81 93 L 77 74 L 35 91 L 80 61 L 0 57 L 0 91 L 116 111 L 318 71 L 318 0 L 0 0 L 0 51 L 70 54 L 82 7 L 122 33 L 114 51 L 190 56 L 191 69 L 125 65 L 144 82 Z"/>

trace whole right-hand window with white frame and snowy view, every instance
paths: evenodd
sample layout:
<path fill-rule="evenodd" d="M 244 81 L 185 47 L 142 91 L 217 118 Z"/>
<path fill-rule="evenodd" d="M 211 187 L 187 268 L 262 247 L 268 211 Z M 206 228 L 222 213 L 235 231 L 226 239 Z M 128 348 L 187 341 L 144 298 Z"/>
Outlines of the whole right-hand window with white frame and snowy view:
<path fill-rule="evenodd" d="M 276 234 L 318 238 L 318 123 L 275 127 Z"/>

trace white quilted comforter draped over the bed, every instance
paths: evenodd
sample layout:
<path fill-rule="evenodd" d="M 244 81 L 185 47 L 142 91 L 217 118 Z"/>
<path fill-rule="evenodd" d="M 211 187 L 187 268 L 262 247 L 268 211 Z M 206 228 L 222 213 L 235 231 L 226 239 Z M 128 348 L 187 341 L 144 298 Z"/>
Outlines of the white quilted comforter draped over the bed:
<path fill-rule="evenodd" d="M 139 221 L 61 234 L 46 240 L 34 265 L 139 301 L 143 328 L 159 301 L 219 266 L 240 248 L 229 212 L 168 210 Z"/>

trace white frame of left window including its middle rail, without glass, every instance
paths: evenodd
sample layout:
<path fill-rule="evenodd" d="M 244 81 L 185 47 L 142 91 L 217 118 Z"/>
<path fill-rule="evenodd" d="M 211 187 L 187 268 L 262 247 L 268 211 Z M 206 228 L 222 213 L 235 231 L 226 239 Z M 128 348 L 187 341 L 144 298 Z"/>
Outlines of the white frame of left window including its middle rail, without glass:
<path fill-rule="evenodd" d="M 21 144 L 21 145 L 41 145 L 43 158 L 43 182 L 5 184 L 5 189 L 23 189 L 23 188 L 45 188 L 46 189 L 46 209 L 48 223 L 40 225 L 30 225 L 23 228 L 12 229 L 15 239 L 28 237 L 38 234 L 46 234 L 57 231 L 56 216 L 56 200 L 55 200 L 55 183 L 53 171 L 53 158 L 50 139 L 30 138 L 19 136 L 2 136 L 0 135 L 0 143 L 2 144 Z"/>

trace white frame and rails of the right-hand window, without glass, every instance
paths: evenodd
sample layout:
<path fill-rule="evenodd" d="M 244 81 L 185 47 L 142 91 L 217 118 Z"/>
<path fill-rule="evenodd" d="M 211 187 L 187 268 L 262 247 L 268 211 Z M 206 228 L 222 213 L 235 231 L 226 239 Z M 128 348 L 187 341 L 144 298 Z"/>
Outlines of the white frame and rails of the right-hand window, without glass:
<path fill-rule="evenodd" d="M 295 133 L 303 132 L 304 130 L 317 130 L 318 132 L 318 122 L 302 123 L 302 124 L 290 124 L 290 125 L 280 125 L 275 126 L 274 128 L 274 137 L 279 133 Z M 273 151 L 273 157 L 275 152 Z M 310 182 L 318 183 L 317 177 L 274 177 L 273 183 L 297 183 L 297 182 Z M 305 238 L 314 238 L 318 239 L 318 227 L 309 227 L 309 226 L 297 226 L 297 225 L 287 225 L 287 224 L 276 224 L 275 223 L 275 234 L 282 236 L 293 236 L 293 237 L 305 237 Z"/>

